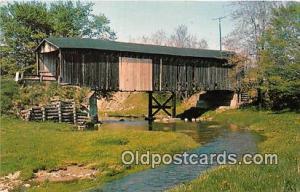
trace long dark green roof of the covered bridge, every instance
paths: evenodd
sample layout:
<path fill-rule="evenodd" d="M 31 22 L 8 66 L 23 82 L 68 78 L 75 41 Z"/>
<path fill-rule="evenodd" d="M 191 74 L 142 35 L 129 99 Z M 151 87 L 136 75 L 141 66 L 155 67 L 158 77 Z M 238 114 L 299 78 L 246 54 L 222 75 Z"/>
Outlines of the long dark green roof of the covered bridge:
<path fill-rule="evenodd" d="M 87 38 L 56 38 L 49 37 L 45 39 L 57 48 L 68 49 L 97 49 L 119 52 L 132 52 L 144 54 L 158 54 L 158 55 L 172 55 L 183 57 L 201 57 L 201 58 L 215 58 L 226 59 L 228 56 L 234 54 L 229 51 L 209 50 L 209 49 L 192 49 L 192 48 L 177 48 L 159 45 L 124 43 L 100 39 Z M 43 42 L 44 42 L 43 41 Z M 37 49 L 43 44 L 37 47 Z"/>

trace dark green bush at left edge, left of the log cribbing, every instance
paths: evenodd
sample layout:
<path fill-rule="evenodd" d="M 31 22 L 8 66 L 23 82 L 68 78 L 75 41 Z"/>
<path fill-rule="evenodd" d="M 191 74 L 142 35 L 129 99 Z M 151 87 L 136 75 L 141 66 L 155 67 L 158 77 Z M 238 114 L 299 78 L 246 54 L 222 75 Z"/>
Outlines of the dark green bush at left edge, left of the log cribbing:
<path fill-rule="evenodd" d="M 1 114 L 11 114 L 15 107 L 15 100 L 19 98 L 19 86 L 13 80 L 1 79 L 0 82 Z"/>

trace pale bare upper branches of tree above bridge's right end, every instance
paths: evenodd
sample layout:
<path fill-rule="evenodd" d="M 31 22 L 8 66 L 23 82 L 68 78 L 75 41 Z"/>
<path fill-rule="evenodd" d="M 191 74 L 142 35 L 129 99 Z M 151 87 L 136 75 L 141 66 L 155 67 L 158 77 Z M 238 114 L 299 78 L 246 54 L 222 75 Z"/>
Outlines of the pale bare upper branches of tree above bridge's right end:
<path fill-rule="evenodd" d="M 270 25 L 272 10 L 278 4 L 266 1 L 233 3 L 231 18 L 235 21 L 235 29 L 224 38 L 225 47 L 256 60 L 257 53 L 264 48 L 259 39 Z"/>

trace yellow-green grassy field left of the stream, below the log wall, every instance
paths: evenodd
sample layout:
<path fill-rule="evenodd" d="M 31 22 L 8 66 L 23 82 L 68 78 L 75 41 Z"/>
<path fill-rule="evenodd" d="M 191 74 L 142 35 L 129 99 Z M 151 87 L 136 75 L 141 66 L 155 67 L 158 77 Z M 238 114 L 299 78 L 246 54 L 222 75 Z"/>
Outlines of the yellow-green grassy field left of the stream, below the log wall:
<path fill-rule="evenodd" d="M 0 120 L 1 176 L 20 170 L 22 179 L 28 180 L 36 170 L 51 170 L 72 163 L 101 172 L 95 180 L 45 182 L 30 188 L 32 191 L 80 191 L 147 168 L 123 166 L 121 152 L 124 150 L 175 153 L 197 146 L 191 138 L 180 133 L 108 129 L 74 131 L 68 124 L 25 122 L 8 117 Z"/>

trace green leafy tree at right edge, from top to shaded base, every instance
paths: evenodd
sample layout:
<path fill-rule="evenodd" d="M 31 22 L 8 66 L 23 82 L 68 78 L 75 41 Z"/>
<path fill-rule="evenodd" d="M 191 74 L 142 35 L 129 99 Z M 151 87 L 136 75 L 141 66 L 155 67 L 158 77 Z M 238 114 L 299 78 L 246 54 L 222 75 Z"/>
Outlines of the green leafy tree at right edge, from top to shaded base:
<path fill-rule="evenodd" d="M 265 106 L 273 109 L 300 108 L 300 4 L 275 9 L 259 62 Z"/>

